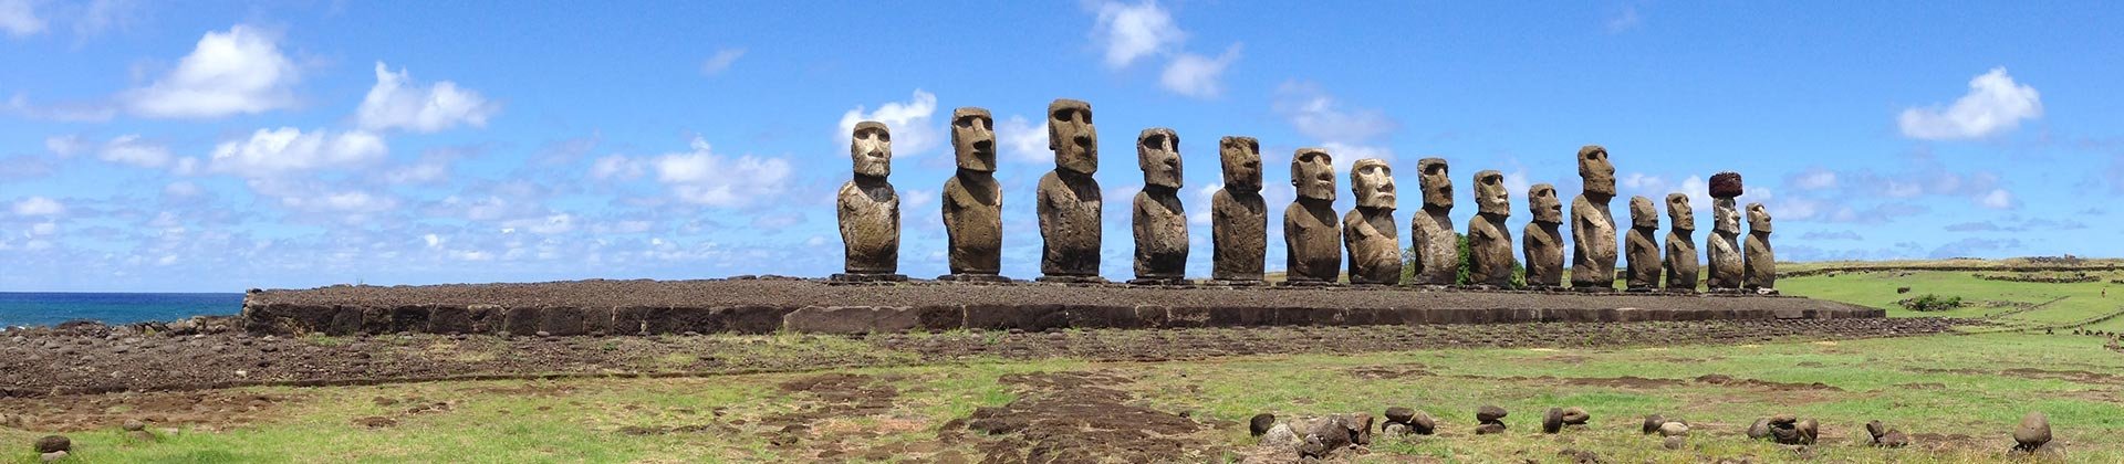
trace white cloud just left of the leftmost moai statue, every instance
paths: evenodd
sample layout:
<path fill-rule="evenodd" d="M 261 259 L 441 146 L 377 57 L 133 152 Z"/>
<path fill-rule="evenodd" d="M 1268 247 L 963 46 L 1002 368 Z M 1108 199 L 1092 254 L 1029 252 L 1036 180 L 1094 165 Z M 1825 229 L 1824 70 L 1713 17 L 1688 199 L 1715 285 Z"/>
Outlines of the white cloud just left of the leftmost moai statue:
<path fill-rule="evenodd" d="M 692 140 L 690 153 L 669 153 L 652 161 L 656 180 L 688 203 L 743 208 L 788 189 L 790 163 L 777 157 L 720 157 L 707 140 Z"/>

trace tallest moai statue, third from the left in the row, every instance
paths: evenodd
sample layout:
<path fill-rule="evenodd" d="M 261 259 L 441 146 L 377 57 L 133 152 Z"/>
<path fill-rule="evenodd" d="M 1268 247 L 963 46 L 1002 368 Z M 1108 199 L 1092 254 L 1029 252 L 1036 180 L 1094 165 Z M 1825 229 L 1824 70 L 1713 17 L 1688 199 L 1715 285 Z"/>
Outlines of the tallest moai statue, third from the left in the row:
<path fill-rule="evenodd" d="M 1096 284 L 1100 246 L 1098 131 L 1092 104 L 1056 100 L 1047 104 L 1047 148 L 1056 169 L 1041 176 L 1037 210 L 1041 218 L 1041 282 Z"/>

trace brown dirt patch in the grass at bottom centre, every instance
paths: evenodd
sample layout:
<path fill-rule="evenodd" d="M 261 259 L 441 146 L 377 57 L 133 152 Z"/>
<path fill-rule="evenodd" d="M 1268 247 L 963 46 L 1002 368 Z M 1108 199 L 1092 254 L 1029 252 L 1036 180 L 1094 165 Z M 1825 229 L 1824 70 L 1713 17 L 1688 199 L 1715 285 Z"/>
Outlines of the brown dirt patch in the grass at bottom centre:
<path fill-rule="evenodd" d="M 1017 400 L 983 407 L 966 430 L 986 434 L 981 462 L 1202 462 L 1217 456 L 1211 430 L 1179 413 L 1136 405 L 1119 390 L 1126 377 L 1104 373 L 1005 375 Z"/>

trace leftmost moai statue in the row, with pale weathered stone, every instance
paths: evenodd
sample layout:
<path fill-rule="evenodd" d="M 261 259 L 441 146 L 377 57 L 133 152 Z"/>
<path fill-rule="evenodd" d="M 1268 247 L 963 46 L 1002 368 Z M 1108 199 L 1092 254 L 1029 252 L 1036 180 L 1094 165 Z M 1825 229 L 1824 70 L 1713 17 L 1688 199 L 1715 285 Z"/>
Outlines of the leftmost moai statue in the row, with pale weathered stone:
<path fill-rule="evenodd" d="M 833 280 L 907 280 L 901 269 L 901 195 L 892 193 L 892 131 L 884 123 L 856 123 L 847 146 L 856 178 L 841 184 L 839 218 L 845 273 Z"/>

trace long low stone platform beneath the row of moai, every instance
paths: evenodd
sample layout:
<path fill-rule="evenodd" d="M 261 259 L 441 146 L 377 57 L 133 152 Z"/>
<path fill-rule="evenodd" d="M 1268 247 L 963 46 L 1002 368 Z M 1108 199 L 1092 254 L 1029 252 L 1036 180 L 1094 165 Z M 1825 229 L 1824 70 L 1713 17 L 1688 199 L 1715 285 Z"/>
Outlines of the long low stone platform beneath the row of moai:
<path fill-rule="evenodd" d="M 253 290 L 253 333 L 901 333 L 1181 326 L 1368 326 L 1882 318 L 1757 295 L 1521 292 L 1378 286 L 839 284 L 794 278 Z"/>

